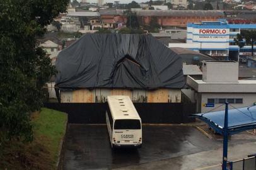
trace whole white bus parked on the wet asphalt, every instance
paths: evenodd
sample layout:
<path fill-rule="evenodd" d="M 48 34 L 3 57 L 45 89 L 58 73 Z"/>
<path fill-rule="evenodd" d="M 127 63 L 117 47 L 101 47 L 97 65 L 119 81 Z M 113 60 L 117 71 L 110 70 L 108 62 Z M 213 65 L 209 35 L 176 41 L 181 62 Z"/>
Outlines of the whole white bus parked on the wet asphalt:
<path fill-rule="evenodd" d="M 141 118 L 129 96 L 108 96 L 106 122 L 110 144 L 115 147 L 141 147 Z"/>

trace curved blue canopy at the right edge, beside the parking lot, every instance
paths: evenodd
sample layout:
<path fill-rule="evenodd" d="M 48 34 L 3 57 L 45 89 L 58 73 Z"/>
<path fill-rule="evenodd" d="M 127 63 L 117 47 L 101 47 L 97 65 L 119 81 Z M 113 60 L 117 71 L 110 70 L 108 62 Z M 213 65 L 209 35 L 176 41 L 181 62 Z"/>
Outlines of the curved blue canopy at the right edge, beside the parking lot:
<path fill-rule="evenodd" d="M 223 133 L 225 111 L 194 114 L 218 133 Z M 228 134 L 256 128 L 256 106 L 228 110 Z"/>

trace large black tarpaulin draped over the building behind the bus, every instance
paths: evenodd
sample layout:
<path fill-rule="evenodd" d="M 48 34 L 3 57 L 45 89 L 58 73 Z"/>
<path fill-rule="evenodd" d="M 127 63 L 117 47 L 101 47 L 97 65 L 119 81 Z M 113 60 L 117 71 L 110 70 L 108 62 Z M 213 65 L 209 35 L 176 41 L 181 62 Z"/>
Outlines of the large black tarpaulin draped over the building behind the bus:
<path fill-rule="evenodd" d="M 150 35 L 88 34 L 57 56 L 57 88 L 182 88 L 182 59 Z"/>

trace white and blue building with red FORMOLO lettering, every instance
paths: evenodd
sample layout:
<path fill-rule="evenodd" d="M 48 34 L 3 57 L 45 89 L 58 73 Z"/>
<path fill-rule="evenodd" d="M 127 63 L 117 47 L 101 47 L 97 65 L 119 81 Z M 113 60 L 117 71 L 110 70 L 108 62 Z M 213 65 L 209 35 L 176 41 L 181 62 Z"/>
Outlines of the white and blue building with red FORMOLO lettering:
<path fill-rule="evenodd" d="M 234 38 L 241 30 L 253 29 L 256 30 L 256 24 L 228 24 L 226 20 L 189 23 L 187 43 L 169 43 L 169 47 L 190 48 L 221 60 L 238 60 L 239 57 L 246 57 L 251 47 L 239 48 Z"/>

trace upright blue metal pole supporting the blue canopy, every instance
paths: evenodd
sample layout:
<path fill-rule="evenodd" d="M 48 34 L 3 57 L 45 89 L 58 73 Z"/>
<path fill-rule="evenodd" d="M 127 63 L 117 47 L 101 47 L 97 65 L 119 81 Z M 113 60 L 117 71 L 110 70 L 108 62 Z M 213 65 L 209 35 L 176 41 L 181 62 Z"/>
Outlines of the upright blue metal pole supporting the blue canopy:
<path fill-rule="evenodd" d="M 223 127 L 223 159 L 222 159 L 222 170 L 226 170 L 228 161 L 228 102 L 225 103 L 225 116 L 224 116 L 224 127 Z"/>

